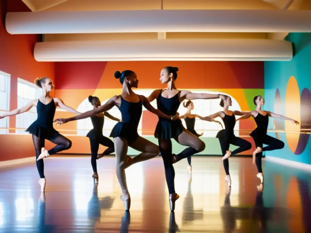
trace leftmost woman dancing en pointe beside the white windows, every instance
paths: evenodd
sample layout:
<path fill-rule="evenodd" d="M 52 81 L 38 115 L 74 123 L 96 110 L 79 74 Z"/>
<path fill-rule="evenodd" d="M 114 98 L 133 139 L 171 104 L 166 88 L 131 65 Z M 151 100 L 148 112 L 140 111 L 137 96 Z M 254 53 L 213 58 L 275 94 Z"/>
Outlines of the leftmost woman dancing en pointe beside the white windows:
<path fill-rule="evenodd" d="M 11 112 L 3 114 L 0 119 L 27 112 L 33 106 L 37 107 L 37 120 L 32 123 L 26 131 L 32 134 L 32 140 L 36 150 L 36 165 L 40 175 L 39 184 L 41 186 L 41 192 L 44 192 L 46 180 L 44 176 L 44 163 L 42 158 L 49 157 L 50 155 L 63 150 L 67 150 L 72 144 L 69 139 L 59 134 L 53 128 L 53 118 L 56 107 L 61 107 L 67 112 L 73 112 L 76 114 L 80 114 L 80 112 L 66 106 L 61 99 L 50 96 L 50 91 L 54 88 L 53 82 L 50 78 L 43 77 L 41 79 L 36 79 L 35 84 L 43 89 L 41 97 L 39 99 L 31 100 L 27 105 L 21 107 L 20 109 L 15 109 Z M 44 148 L 45 139 L 57 145 L 50 150 L 46 150 Z"/>

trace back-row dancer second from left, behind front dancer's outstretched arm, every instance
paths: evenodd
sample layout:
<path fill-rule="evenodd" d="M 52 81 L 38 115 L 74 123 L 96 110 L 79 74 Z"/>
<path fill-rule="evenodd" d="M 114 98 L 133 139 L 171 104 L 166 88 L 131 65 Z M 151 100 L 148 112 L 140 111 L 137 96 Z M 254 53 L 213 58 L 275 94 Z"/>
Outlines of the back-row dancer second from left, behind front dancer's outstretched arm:
<path fill-rule="evenodd" d="M 96 96 L 89 96 L 89 102 L 94 106 L 93 109 L 100 107 L 100 99 Z M 103 135 L 104 116 L 110 118 L 113 121 L 120 121 L 120 119 L 111 116 L 108 112 L 99 113 L 91 116 L 93 129 L 87 133 L 86 137 L 90 139 L 91 144 L 91 165 L 93 168 L 94 182 L 98 182 L 97 163 L 96 159 L 102 158 L 104 155 L 114 152 L 114 143 L 109 138 Z M 108 147 L 102 154 L 98 154 L 99 144 Z"/>

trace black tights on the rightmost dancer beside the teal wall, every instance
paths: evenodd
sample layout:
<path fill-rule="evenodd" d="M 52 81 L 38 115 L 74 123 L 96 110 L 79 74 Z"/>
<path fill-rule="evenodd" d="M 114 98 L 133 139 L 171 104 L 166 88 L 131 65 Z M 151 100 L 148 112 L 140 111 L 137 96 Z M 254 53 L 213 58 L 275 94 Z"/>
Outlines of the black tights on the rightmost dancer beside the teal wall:
<path fill-rule="evenodd" d="M 263 147 L 262 151 L 270 151 L 270 150 L 277 150 L 277 149 L 284 148 L 284 142 L 282 142 L 279 139 L 273 138 L 269 135 L 263 135 L 263 136 L 253 135 L 252 137 L 255 141 L 256 148 L 257 147 L 262 148 L 263 144 L 268 145 L 266 147 Z M 262 158 L 262 152 L 257 153 L 256 154 L 256 166 L 257 166 L 258 173 L 262 172 L 261 158 Z"/>

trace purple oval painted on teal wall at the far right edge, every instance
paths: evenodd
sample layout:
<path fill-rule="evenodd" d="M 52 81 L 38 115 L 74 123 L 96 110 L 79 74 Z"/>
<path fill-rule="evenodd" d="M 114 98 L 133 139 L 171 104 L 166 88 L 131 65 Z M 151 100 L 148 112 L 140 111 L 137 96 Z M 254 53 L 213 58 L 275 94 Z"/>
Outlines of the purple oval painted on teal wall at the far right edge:
<path fill-rule="evenodd" d="M 300 132 L 310 132 L 311 129 L 311 93 L 309 89 L 304 88 L 301 92 L 300 97 L 300 117 L 301 117 L 301 126 Z M 298 145 L 295 151 L 295 154 L 301 154 L 304 152 L 309 140 L 309 134 L 300 134 Z"/>

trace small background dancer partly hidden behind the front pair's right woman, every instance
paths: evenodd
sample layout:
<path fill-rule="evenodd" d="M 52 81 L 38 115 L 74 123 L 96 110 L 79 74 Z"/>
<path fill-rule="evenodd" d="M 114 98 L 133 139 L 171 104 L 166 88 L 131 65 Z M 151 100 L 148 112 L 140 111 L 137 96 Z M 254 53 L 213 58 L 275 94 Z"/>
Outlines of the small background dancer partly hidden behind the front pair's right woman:
<path fill-rule="evenodd" d="M 179 119 L 184 119 L 185 120 L 185 123 L 186 123 L 186 127 L 187 127 L 187 130 L 192 133 L 193 135 L 197 136 L 197 137 L 200 137 L 203 135 L 203 133 L 201 134 L 198 134 L 195 129 L 194 129 L 194 125 L 195 125 L 195 118 L 199 118 L 201 120 L 207 120 L 207 121 L 214 121 L 214 122 L 217 122 L 218 124 L 220 124 L 220 126 L 222 127 L 221 123 L 219 121 L 215 121 L 213 119 L 207 119 L 207 118 L 204 118 L 204 117 L 201 117 L 197 114 L 191 114 L 191 110 L 193 110 L 194 108 L 194 105 L 193 105 L 193 102 L 191 100 L 188 100 L 186 103 L 183 102 L 183 107 L 186 107 L 187 108 L 187 113 L 186 114 L 183 114 L 182 116 L 179 116 Z M 189 174 L 192 174 L 192 166 L 191 166 L 191 155 L 187 157 L 187 160 L 188 160 L 188 171 L 189 171 Z"/>

